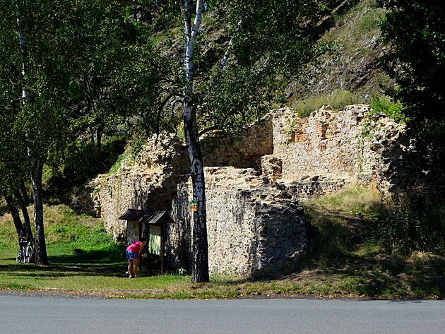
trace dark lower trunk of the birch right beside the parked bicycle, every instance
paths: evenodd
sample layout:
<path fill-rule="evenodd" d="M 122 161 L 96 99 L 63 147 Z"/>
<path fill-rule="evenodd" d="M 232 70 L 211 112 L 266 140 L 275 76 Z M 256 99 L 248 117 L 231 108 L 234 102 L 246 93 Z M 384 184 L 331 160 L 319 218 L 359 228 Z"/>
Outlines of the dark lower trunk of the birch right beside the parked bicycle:
<path fill-rule="evenodd" d="M 43 166 L 32 157 L 31 184 L 32 198 L 34 199 L 34 227 L 35 227 L 35 263 L 47 265 L 47 246 L 43 229 L 43 201 L 42 201 L 42 174 Z"/>

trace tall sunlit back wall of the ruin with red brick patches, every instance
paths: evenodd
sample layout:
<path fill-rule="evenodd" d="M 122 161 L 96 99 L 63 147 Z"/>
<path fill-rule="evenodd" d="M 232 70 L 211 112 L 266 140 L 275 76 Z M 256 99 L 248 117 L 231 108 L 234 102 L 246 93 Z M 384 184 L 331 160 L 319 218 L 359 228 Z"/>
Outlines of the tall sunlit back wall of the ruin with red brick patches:
<path fill-rule="evenodd" d="M 337 181 L 374 181 L 387 193 L 410 178 L 409 153 L 405 126 L 367 105 L 323 107 L 307 119 L 283 108 L 274 114 L 273 154 L 262 157 L 262 166 L 263 174 L 282 185 L 313 179 L 331 193 Z"/>

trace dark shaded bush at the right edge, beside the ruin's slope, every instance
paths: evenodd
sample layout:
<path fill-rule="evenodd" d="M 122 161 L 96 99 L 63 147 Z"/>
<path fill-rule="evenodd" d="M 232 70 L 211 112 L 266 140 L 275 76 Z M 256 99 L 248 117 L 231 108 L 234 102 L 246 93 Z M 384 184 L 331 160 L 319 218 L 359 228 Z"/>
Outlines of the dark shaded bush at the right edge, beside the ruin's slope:
<path fill-rule="evenodd" d="M 374 241 L 391 254 L 445 254 L 445 203 L 432 193 L 410 191 L 379 215 Z"/>

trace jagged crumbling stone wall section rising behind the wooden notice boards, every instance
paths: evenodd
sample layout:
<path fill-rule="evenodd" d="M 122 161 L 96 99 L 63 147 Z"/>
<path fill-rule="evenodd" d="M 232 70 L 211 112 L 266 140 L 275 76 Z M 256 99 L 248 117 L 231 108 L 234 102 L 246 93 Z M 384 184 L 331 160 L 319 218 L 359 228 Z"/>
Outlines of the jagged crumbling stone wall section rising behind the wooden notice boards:
<path fill-rule="evenodd" d="M 139 153 L 126 157 L 116 173 L 100 175 L 85 189 L 90 190 L 96 216 L 102 217 L 105 229 L 120 240 L 126 236 L 126 222 L 118 218 L 129 208 L 170 210 L 177 184 L 188 170 L 179 139 L 162 133 L 150 138 Z M 76 198 L 78 205 L 85 203 L 84 197 Z"/>

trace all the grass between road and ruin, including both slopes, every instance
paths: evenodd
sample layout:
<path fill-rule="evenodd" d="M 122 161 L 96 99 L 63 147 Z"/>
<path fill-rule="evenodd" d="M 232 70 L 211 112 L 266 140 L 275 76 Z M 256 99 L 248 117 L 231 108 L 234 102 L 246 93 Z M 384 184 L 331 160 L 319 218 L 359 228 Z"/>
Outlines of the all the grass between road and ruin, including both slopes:
<path fill-rule="evenodd" d="M 353 211 L 360 209 L 348 205 Z M 110 239 L 100 220 L 76 215 L 63 205 L 45 208 L 49 266 L 16 263 L 16 236 L 4 215 L 0 217 L 0 290 L 129 299 L 445 297 L 443 256 L 420 252 L 389 256 L 366 243 L 351 247 L 350 229 L 372 225 L 372 220 L 328 206 L 306 205 L 312 250 L 298 262 L 249 278 L 212 275 L 205 284 L 192 284 L 187 275 L 148 275 L 144 269 L 139 278 L 126 278 L 124 246 Z M 331 205 L 338 206 L 344 207 L 344 201 Z M 366 213 L 369 208 L 360 210 Z"/>

